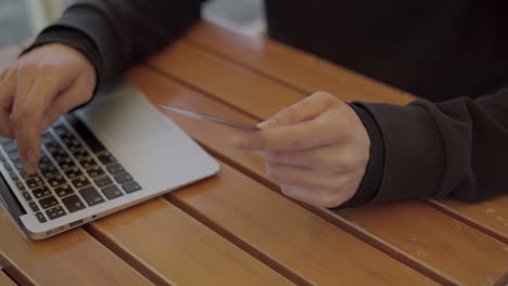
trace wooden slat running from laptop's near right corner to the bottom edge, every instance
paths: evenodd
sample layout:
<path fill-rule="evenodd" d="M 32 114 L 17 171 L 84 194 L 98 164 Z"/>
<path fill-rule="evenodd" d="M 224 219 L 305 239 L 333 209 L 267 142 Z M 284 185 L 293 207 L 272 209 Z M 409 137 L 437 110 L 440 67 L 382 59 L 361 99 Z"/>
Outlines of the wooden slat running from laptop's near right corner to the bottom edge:
<path fill-rule="evenodd" d="M 175 94 L 164 88 L 169 82 L 164 78 L 140 73 L 140 69 L 128 78 L 151 101 L 174 103 Z M 212 129 L 202 131 L 214 132 Z M 240 239 L 263 259 L 271 258 L 317 285 L 333 285 L 339 281 L 357 285 L 432 284 L 421 274 L 226 165 L 217 177 L 173 193 L 168 199 L 207 221 L 211 227 Z"/>

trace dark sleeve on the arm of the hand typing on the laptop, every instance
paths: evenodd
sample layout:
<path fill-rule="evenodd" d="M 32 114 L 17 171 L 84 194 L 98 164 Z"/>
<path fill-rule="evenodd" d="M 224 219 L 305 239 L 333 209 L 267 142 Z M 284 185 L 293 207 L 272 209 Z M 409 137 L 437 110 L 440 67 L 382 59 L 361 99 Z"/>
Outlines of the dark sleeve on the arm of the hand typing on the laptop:
<path fill-rule="evenodd" d="M 179 37 L 200 18 L 204 0 L 79 0 L 45 28 L 35 47 L 62 42 L 87 56 L 99 83 Z"/>

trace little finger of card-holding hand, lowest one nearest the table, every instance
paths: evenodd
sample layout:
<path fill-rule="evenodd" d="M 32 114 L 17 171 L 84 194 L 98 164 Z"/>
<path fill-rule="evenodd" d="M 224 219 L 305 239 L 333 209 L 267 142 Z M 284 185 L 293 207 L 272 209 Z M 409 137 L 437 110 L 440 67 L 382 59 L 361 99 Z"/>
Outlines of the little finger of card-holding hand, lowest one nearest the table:
<path fill-rule="evenodd" d="M 338 207 L 348 198 L 342 194 L 330 194 L 319 191 L 309 191 L 296 185 L 282 185 L 280 187 L 282 194 L 292 197 L 296 200 L 323 208 Z"/>

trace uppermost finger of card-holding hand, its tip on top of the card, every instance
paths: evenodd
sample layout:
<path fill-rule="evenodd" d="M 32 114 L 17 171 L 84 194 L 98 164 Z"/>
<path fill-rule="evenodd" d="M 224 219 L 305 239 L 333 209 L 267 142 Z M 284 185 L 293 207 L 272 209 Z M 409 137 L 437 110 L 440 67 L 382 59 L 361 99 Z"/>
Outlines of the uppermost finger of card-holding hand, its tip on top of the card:
<path fill-rule="evenodd" d="M 258 123 L 257 127 L 269 129 L 307 121 L 340 104 L 344 103 L 330 93 L 319 91 L 305 100 L 281 109 L 270 119 Z"/>

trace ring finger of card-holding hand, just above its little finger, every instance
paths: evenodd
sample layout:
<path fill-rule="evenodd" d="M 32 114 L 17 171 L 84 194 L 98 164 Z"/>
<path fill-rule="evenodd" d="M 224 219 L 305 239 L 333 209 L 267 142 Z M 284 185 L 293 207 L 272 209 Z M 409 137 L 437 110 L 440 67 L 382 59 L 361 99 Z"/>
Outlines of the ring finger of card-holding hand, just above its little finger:
<path fill-rule="evenodd" d="M 297 185 L 323 192 L 341 190 L 350 179 L 348 174 L 323 172 L 310 168 L 271 162 L 266 164 L 266 174 L 271 182 L 280 185 Z"/>

